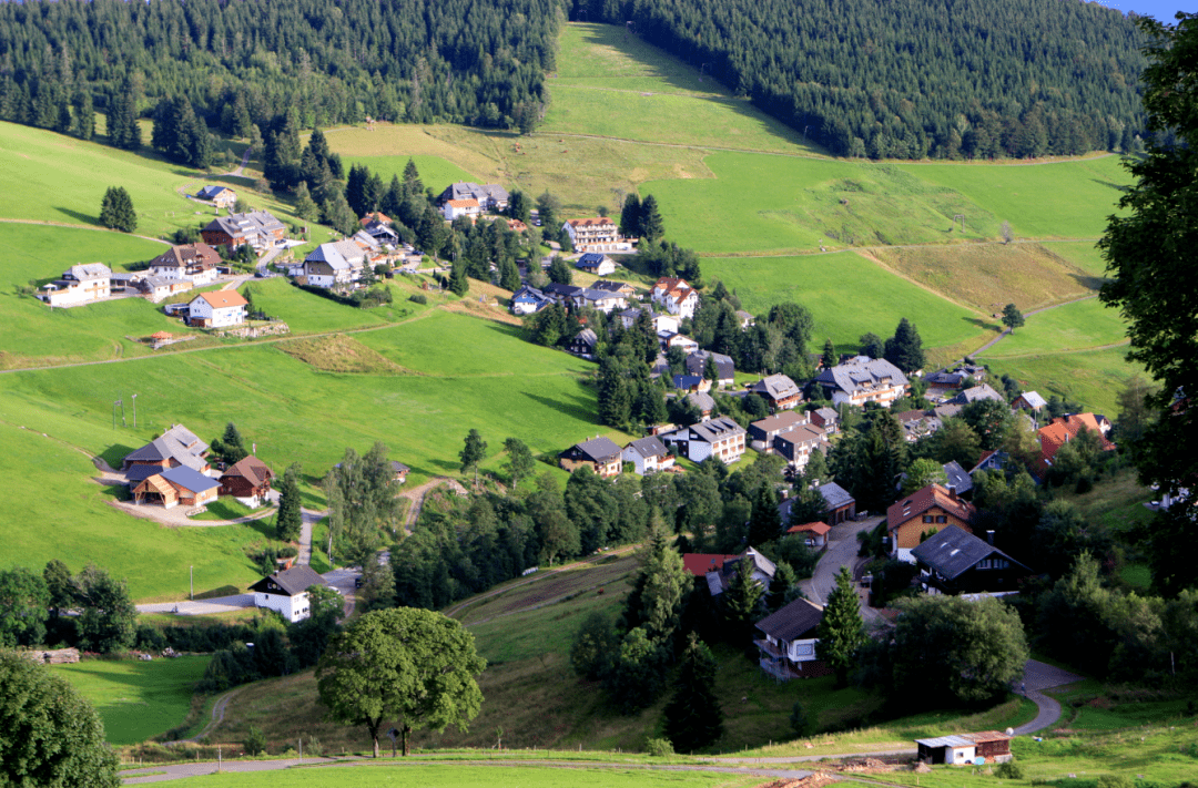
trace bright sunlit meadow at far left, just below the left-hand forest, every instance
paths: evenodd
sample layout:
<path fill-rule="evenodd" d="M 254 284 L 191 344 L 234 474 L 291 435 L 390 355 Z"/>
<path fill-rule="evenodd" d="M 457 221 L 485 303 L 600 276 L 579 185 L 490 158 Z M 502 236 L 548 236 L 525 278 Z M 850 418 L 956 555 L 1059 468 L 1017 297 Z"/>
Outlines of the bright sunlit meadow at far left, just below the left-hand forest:
<path fill-rule="evenodd" d="M 143 133 L 149 140 L 149 134 Z M 140 235 L 169 235 L 211 220 L 213 208 L 188 200 L 205 183 L 224 183 L 252 207 L 284 223 L 297 222 L 290 207 L 256 194 L 247 178 L 207 175 L 167 162 L 149 147 L 121 151 L 46 129 L 0 122 L 0 172 L 19 190 L 0 198 L 0 218 L 98 225 L 99 204 L 113 186 L 125 187 L 138 213 Z M 301 223 L 302 224 L 302 223 Z"/>

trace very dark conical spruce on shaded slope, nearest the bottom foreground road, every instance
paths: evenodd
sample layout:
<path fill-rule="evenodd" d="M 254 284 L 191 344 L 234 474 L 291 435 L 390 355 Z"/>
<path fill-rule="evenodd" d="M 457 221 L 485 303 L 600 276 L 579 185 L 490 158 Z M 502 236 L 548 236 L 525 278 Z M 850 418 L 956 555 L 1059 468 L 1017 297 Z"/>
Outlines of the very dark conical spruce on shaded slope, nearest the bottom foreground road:
<path fill-rule="evenodd" d="M 698 635 L 682 653 L 674 693 L 665 708 L 665 733 L 678 752 L 692 752 L 724 735 L 724 710 L 715 695 L 718 663 Z"/>

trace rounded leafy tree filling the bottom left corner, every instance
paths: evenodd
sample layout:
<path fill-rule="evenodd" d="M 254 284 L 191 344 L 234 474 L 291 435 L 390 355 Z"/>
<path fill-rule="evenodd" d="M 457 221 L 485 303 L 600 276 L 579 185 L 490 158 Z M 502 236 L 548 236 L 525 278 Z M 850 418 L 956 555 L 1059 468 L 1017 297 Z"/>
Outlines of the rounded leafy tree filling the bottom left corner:
<path fill-rule="evenodd" d="M 0 654 L 0 784 L 121 784 L 91 704 L 66 679 L 16 654 Z"/>

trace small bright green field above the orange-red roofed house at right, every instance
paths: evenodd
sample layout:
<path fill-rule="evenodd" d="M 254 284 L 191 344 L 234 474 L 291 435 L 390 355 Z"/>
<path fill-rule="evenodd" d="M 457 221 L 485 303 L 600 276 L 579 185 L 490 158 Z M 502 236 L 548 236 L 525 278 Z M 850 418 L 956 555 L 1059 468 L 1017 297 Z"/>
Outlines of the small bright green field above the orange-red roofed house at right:
<path fill-rule="evenodd" d="M 1115 398 L 1127 378 L 1136 372 L 1146 377 L 1144 368 L 1126 356 L 1126 347 L 1111 347 L 1016 358 L 986 356 L 985 360 L 993 375 L 1010 375 L 1023 390 L 1039 392 L 1045 399 L 1057 394 L 1081 402 L 1087 411 L 1112 414 L 1119 412 Z"/>

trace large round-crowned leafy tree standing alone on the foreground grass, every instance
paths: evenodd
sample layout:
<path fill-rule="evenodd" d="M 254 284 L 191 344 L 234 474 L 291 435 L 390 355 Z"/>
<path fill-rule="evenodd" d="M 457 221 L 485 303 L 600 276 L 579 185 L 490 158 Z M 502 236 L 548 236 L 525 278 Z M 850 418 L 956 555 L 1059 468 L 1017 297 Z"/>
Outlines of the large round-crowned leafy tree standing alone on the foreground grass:
<path fill-rule="evenodd" d="M 379 732 L 391 721 L 407 756 L 412 731 L 466 729 L 483 703 L 474 677 L 485 667 L 461 624 L 399 607 L 367 613 L 333 638 L 316 668 L 316 687 L 333 719 L 367 728 L 375 758 Z"/>

